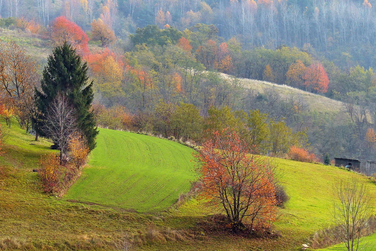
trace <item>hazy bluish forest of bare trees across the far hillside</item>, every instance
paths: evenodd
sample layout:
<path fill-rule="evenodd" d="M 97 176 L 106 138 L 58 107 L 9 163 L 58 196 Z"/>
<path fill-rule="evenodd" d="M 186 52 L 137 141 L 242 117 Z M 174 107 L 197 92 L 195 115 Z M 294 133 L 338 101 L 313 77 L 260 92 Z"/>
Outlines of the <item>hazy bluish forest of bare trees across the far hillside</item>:
<path fill-rule="evenodd" d="M 115 34 L 122 38 L 148 24 L 179 30 L 214 24 L 219 36 L 235 36 L 244 49 L 285 44 L 325 56 L 340 67 L 376 64 L 372 0 L 0 0 L 0 15 L 35 17 L 44 26 L 66 15 L 89 30 L 106 5 Z"/>

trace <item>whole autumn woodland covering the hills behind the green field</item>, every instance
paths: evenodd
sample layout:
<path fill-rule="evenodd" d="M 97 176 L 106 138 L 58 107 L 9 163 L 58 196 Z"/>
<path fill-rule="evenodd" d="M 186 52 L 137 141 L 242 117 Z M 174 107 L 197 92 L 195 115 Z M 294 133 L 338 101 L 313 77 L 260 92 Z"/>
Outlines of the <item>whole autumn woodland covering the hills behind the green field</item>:
<path fill-rule="evenodd" d="M 264 154 L 283 156 L 298 147 L 318 158 L 374 160 L 373 4 L 0 0 L 0 26 L 41 38 L 50 50 L 64 41 L 73 45 L 94 81 L 100 126 L 196 144 L 230 127 Z M 6 51 L 22 54 L 12 42 L 2 46 L 3 66 L 12 61 Z M 23 68 L 2 68 L 2 89 L 17 100 L 4 105 L 2 117 L 17 116 L 29 128 L 35 109 L 30 97 L 9 91 L 8 75 L 28 69 L 25 85 L 38 89 L 36 68 L 45 62 L 24 61 Z M 312 110 L 303 96 L 245 88 L 241 78 L 340 100 L 341 112 Z"/>

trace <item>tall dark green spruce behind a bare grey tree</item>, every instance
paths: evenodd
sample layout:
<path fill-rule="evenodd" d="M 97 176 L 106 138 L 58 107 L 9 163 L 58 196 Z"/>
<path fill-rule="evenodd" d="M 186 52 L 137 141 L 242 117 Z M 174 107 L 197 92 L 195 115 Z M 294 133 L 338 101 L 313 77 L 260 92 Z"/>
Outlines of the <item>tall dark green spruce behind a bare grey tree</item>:
<path fill-rule="evenodd" d="M 67 42 L 53 50 L 43 70 L 41 91 L 35 90 L 40 113 L 37 133 L 44 135 L 41 128 L 47 108 L 56 95 L 61 93 L 66 95 L 69 105 L 73 107 L 77 129 L 86 137 L 88 147 L 90 150 L 96 147 L 95 140 L 99 131 L 91 111 L 93 82 L 88 84 L 87 71 L 86 62 L 82 62 L 80 55 Z"/>

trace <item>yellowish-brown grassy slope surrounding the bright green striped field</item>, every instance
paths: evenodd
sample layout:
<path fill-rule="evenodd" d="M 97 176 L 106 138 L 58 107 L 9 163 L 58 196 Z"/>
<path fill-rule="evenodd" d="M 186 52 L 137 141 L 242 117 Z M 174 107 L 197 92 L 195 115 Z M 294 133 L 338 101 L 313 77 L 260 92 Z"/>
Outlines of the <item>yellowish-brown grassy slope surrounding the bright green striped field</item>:
<path fill-rule="evenodd" d="M 118 137 L 117 133 L 122 132 L 114 132 L 115 138 Z M 150 138 L 137 136 L 144 137 L 144 140 Z M 150 140 L 172 143 L 162 139 Z M 5 236 L 31 239 L 38 249 L 45 245 L 54 246 L 53 249 L 63 249 L 67 246 L 87 249 L 97 246 L 98 250 L 110 249 L 119 231 L 126 229 L 135 234 L 145 233 L 153 226 L 157 230 L 188 231 L 196 237 L 183 242 L 147 244 L 138 249 L 299 250 L 299 245 L 304 242 L 305 237 L 328 221 L 327 207 L 330 206 L 332 184 L 341 177 L 361 177 L 331 166 L 276 159 L 280 171 L 283 172 L 284 186 L 291 197 L 286 208 L 281 211 L 280 221 L 276 224 L 277 230 L 282 232 L 282 237 L 234 238 L 223 231 L 208 227 L 211 219 L 206 214 L 210 215 L 216 210 L 197 200 L 191 200 L 179 210 L 169 209 L 166 212 L 143 214 L 130 213 L 118 208 L 71 203 L 65 198 L 45 195 L 41 192 L 38 177 L 32 172 L 32 168 L 35 168 L 41 154 L 50 151 L 50 143 L 41 141 L 35 144 L 33 137 L 16 125 L 12 126 L 7 143 L 7 154 L 0 157 L 0 239 Z M 98 148 L 105 147 L 102 144 L 103 142 L 99 141 Z M 191 152 L 190 148 L 188 149 Z M 92 161 L 95 159 L 94 154 Z M 373 183 L 369 185 L 375 206 L 376 186 Z M 204 231 L 205 236 L 200 236 L 200 231 Z M 372 238 L 374 239 L 372 236 L 368 239 Z"/>

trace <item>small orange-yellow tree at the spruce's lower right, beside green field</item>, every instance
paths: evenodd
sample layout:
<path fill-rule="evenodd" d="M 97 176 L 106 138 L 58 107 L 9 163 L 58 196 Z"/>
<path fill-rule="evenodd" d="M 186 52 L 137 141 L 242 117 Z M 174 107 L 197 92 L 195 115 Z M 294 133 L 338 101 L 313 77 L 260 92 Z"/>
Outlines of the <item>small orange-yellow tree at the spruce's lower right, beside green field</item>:
<path fill-rule="evenodd" d="M 85 138 L 80 133 L 74 132 L 70 135 L 68 140 L 68 150 L 71 151 L 74 165 L 80 169 L 85 165 L 89 154 L 89 148 L 86 145 Z"/>

